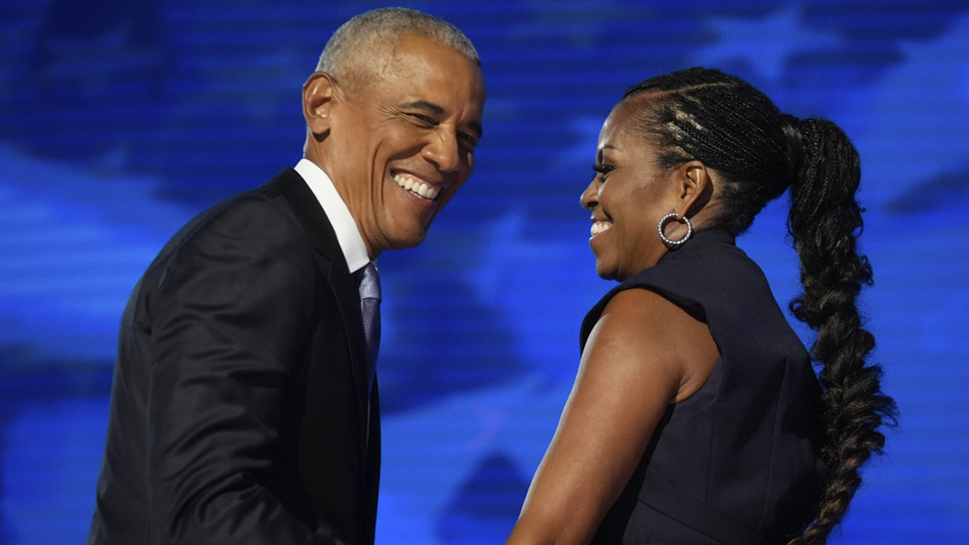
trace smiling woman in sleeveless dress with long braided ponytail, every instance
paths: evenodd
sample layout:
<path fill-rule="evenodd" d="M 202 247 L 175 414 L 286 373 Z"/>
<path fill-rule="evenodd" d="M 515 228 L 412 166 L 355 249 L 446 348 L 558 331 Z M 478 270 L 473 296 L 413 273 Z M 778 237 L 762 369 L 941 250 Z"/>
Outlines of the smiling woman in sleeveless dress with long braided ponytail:
<path fill-rule="evenodd" d="M 582 324 L 508 543 L 824 543 L 894 415 L 856 306 L 858 152 L 834 123 L 693 68 L 626 92 L 595 172 L 589 244 L 620 283 Z M 788 188 L 810 353 L 734 243 Z"/>

